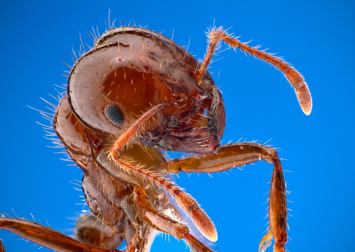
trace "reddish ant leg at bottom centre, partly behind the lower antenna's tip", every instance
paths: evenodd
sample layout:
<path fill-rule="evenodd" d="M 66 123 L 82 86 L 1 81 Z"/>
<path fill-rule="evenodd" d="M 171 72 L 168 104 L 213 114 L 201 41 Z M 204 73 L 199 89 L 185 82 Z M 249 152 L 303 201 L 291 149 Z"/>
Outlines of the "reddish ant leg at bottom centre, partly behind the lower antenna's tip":
<path fill-rule="evenodd" d="M 141 218 L 148 224 L 152 225 L 155 230 L 173 235 L 177 239 L 184 239 L 194 252 L 213 252 L 206 245 L 192 236 L 187 226 L 158 212 L 158 210 L 152 206 L 151 202 L 149 202 L 142 187 L 136 186 L 133 194 Z"/>

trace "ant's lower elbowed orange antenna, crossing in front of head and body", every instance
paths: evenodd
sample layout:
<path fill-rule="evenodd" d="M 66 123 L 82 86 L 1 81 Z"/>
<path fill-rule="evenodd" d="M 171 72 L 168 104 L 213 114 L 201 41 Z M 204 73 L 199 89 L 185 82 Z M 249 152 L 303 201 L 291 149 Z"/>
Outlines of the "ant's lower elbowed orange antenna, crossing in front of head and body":
<path fill-rule="evenodd" d="M 119 167 L 126 172 L 133 172 L 140 175 L 159 187 L 162 187 L 165 191 L 169 192 L 176 202 L 181 206 L 184 211 L 190 215 L 191 220 L 195 223 L 200 232 L 209 240 L 217 241 L 217 230 L 209 218 L 209 216 L 200 208 L 196 199 L 191 195 L 182 191 L 180 187 L 174 185 L 172 182 L 165 180 L 163 176 L 154 174 L 153 172 L 146 170 L 139 166 L 134 166 L 131 163 L 120 159 L 120 150 L 135 136 L 143 124 L 150 119 L 159 110 L 172 105 L 172 101 L 163 102 L 153 106 L 146 111 L 137 121 L 135 121 L 130 127 L 127 128 L 114 142 L 110 152 L 109 158 L 112 159 Z"/>

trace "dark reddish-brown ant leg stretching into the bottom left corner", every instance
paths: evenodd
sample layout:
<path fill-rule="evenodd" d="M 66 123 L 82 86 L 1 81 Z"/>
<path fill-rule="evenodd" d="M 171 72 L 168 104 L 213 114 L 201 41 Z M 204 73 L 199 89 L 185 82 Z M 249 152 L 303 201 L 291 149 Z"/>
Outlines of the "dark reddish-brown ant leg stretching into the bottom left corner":
<path fill-rule="evenodd" d="M 0 229 L 5 229 L 22 236 L 24 239 L 33 241 L 43 247 L 50 248 L 55 251 L 66 252 L 110 252 L 102 248 L 87 245 L 66 236 L 58 231 L 43 226 L 41 224 L 31 222 L 24 219 L 16 219 L 9 217 L 0 217 Z M 5 251 L 0 246 L 0 251 Z M 120 250 L 112 250 L 114 252 L 122 252 Z"/>

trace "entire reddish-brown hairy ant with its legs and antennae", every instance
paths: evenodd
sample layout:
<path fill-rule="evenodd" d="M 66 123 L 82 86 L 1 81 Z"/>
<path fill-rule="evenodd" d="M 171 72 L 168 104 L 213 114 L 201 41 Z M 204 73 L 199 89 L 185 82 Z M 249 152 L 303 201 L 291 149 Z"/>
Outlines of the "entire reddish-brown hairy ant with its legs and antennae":
<path fill-rule="evenodd" d="M 286 62 L 240 43 L 222 28 L 212 29 L 208 37 L 202 63 L 170 39 L 143 28 L 114 28 L 97 38 L 72 67 L 53 120 L 67 153 L 83 170 L 82 189 L 92 215 L 78 221 L 78 240 L 23 219 L 1 217 L 0 228 L 60 251 L 118 251 L 124 239 L 125 251 L 145 252 L 155 230 L 184 239 L 195 252 L 212 251 L 180 223 L 179 209 L 171 201 L 175 199 L 201 234 L 216 241 L 213 222 L 169 174 L 218 172 L 265 160 L 274 169 L 269 229 L 259 251 L 272 239 L 274 251 L 285 251 L 287 206 L 280 160 L 275 149 L 261 144 L 220 146 L 225 108 L 207 68 L 218 42 L 224 41 L 278 67 L 307 115 L 312 109 L 309 89 Z M 195 155 L 166 160 L 162 153 L 170 150 Z"/>

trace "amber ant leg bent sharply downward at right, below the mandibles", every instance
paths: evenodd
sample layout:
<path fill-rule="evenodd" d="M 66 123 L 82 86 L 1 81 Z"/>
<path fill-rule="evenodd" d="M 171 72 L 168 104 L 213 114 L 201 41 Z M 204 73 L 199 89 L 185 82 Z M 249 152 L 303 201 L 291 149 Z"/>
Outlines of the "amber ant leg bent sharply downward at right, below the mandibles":
<path fill-rule="evenodd" d="M 285 251 L 287 242 L 286 186 L 276 150 L 256 143 L 233 143 L 221 146 L 213 153 L 168 161 L 166 172 L 219 172 L 237 166 L 265 160 L 274 164 L 269 192 L 269 232 L 260 242 L 263 252 L 275 239 L 274 252 Z"/>

